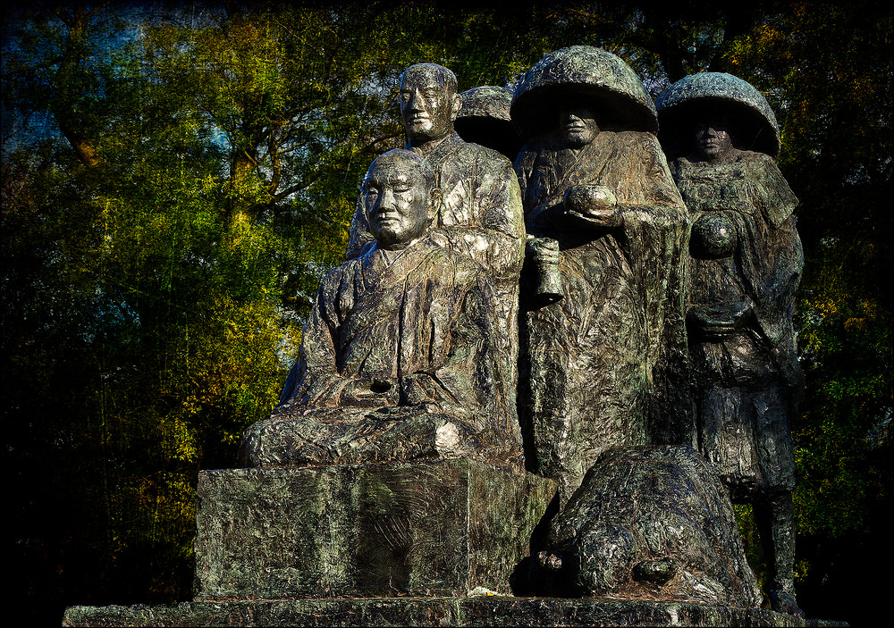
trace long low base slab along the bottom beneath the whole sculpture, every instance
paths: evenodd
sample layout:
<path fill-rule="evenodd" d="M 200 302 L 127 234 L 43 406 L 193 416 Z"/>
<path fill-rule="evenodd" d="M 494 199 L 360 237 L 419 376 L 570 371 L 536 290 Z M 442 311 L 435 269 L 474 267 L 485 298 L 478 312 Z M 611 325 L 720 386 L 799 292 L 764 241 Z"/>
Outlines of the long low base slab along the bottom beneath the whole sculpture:
<path fill-rule="evenodd" d="M 549 598 L 293 599 L 70 607 L 63 626 L 768 626 L 847 628 L 755 608 Z"/>

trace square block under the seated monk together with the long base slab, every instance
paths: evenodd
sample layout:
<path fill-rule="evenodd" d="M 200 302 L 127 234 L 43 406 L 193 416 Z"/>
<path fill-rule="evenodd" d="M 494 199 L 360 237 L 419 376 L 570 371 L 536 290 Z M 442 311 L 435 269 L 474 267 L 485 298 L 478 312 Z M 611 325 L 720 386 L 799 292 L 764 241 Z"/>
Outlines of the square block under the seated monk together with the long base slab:
<path fill-rule="evenodd" d="M 468 460 L 205 471 L 196 600 L 63 626 L 847 626 L 756 608 L 513 598 L 556 485 Z"/>

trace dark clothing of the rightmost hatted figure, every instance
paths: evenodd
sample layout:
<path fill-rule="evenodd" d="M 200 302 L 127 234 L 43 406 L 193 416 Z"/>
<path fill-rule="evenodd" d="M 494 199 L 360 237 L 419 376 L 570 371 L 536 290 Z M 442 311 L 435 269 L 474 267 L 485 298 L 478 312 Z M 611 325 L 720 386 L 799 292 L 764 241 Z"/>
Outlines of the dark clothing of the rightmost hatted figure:
<path fill-rule="evenodd" d="M 736 498 L 792 490 L 789 415 L 802 384 L 792 324 L 804 265 L 792 215 L 797 198 L 763 153 L 732 149 L 714 164 L 680 157 L 671 171 L 694 223 L 721 216 L 736 234 L 730 255 L 690 260 L 690 310 L 750 308 L 723 339 L 690 332 L 699 448 Z"/>

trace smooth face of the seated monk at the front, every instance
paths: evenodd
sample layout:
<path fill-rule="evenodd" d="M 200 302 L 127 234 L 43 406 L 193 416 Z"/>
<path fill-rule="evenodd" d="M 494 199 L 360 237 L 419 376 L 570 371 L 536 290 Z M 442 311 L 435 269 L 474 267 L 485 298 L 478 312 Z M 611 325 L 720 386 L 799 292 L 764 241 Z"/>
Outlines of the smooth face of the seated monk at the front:
<path fill-rule="evenodd" d="M 409 159 L 384 155 L 375 160 L 364 181 L 364 205 L 379 247 L 408 247 L 428 229 L 426 178 Z"/>

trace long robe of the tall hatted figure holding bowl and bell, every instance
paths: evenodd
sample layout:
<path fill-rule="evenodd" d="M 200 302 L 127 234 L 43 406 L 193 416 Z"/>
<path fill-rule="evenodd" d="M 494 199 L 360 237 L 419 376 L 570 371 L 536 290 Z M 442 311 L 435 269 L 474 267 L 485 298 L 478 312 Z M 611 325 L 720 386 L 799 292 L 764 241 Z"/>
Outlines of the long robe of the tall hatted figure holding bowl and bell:
<path fill-rule="evenodd" d="M 559 243 L 561 300 L 536 307 L 534 273 L 523 273 L 519 413 L 536 471 L 560 482 L 564 500 L 608 448 L 691 439 L 687 216 L 651 133 L 602 131 L 579 149 L 547 138 L 515 165 L 528 233 Z M 570 222 L 563 196 L 575 185 L 611 188 L 623 226 Z"/>

